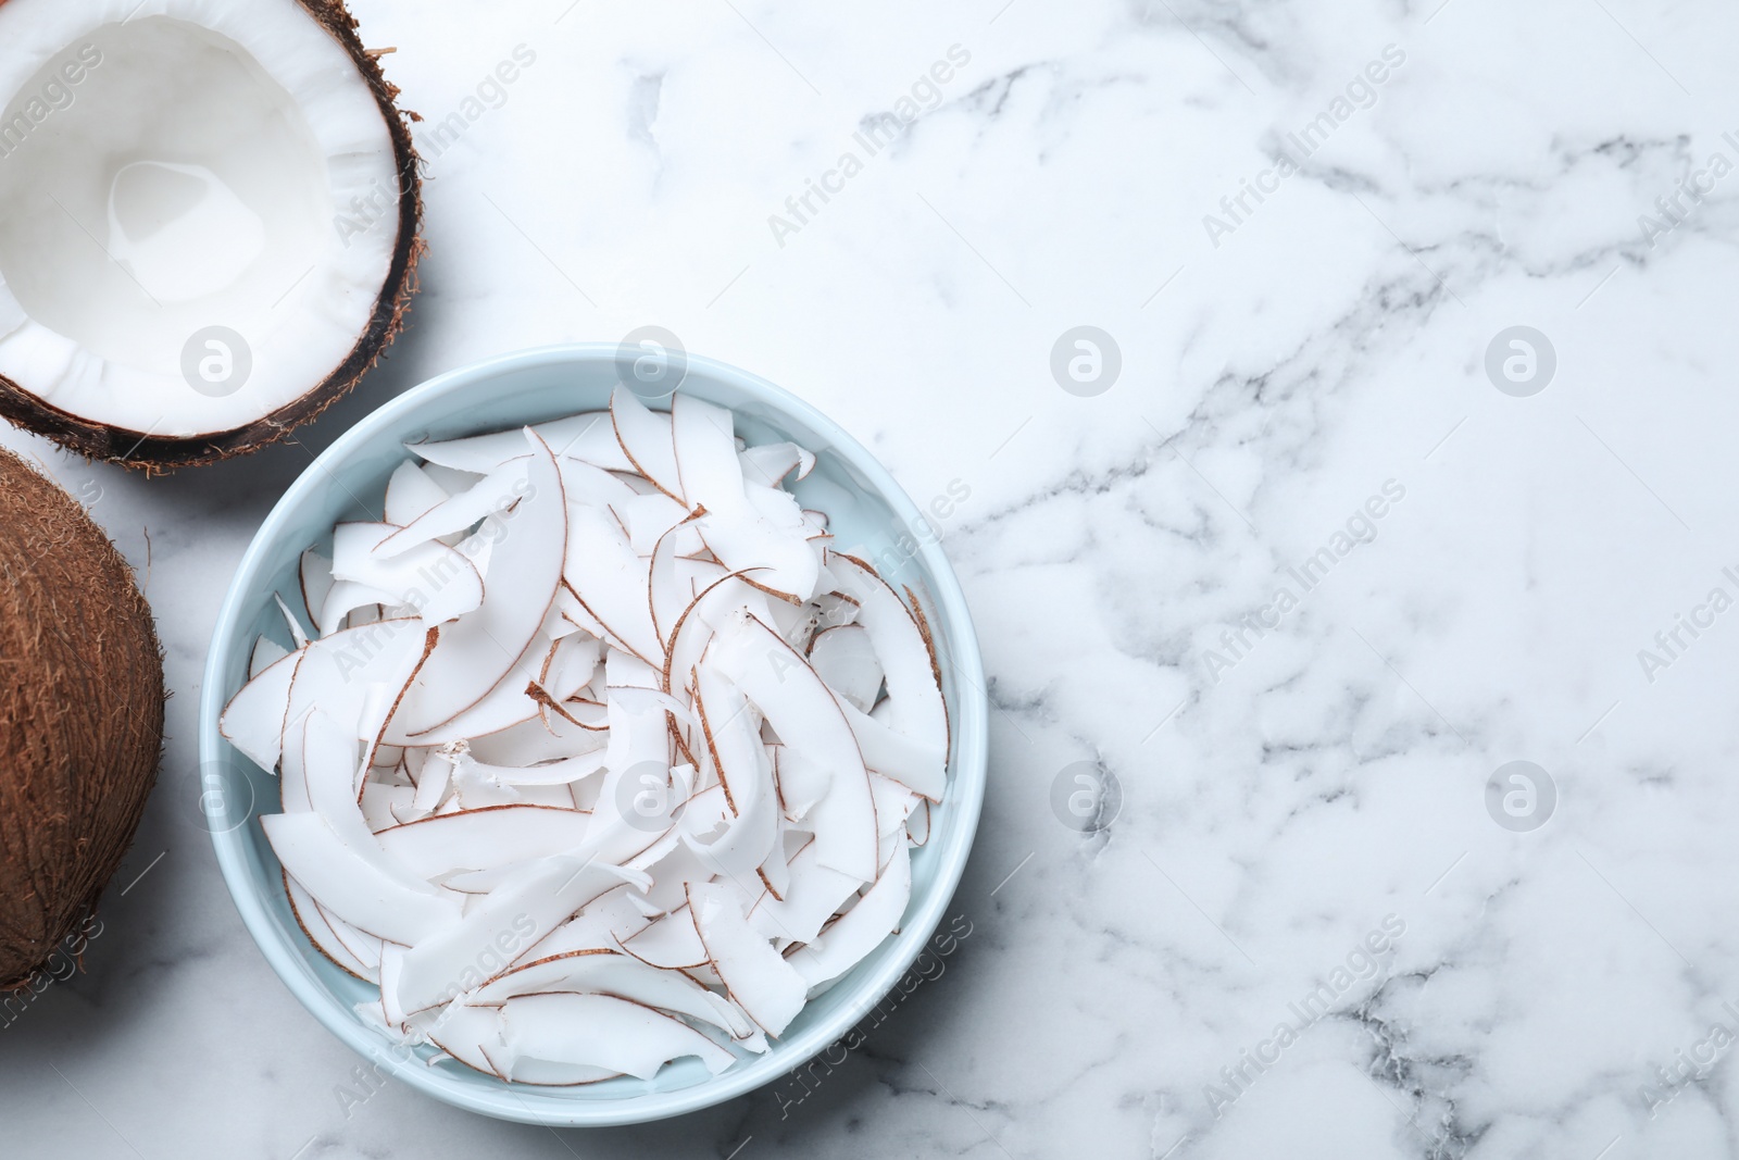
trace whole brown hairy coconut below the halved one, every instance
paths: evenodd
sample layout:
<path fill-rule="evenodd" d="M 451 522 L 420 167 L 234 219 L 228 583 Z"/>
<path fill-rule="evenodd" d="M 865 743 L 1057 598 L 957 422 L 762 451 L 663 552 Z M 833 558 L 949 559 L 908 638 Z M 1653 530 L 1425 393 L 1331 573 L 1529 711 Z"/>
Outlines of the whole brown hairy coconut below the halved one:
<path fill-rule="evenodd" d="M 162 748 L 163 661 L 132 569 L 0 450 L 0 993 L 96 906 Z"/>

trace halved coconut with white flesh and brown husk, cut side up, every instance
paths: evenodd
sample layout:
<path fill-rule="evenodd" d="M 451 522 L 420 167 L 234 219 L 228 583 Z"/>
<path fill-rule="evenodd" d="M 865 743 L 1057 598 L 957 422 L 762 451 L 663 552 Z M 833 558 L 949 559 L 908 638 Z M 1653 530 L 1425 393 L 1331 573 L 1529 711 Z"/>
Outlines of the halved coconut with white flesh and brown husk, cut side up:
<path fill-rule="evenodd" d="M 421 197 L 336 0 L 0 0 L 0 414 L 157 471 L 282 438 L 403 323 Z"/>

